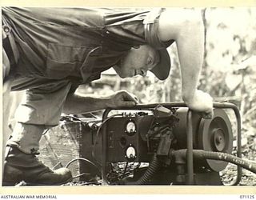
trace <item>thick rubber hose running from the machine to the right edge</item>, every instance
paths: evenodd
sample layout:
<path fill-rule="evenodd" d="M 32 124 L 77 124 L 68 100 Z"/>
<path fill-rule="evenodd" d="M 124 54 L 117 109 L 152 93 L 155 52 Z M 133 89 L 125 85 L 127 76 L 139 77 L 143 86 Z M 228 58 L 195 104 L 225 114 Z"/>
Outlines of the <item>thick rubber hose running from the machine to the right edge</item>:
<path fill-rule="evenodd" d="M 182 156 L 183 158 L 186 158 L 186 150 L 175 150 L 173 152 L 173 155 L 178 154 Z M 222 152 L 212 152 L 212 151 L 206 151 L 206 150 L 193 150 L 193 157 L 195 159 L 210 159 L 210 160 L 221 160 L 233 163 L 237 166 L 241 166 L 242 168 L 245 168 L 246 170 L 250 170 L 251 172 L 256 174 L 256 164 L 246 161 L 242 158 L 238 158 L 237 156 L 226 154 Z"/>

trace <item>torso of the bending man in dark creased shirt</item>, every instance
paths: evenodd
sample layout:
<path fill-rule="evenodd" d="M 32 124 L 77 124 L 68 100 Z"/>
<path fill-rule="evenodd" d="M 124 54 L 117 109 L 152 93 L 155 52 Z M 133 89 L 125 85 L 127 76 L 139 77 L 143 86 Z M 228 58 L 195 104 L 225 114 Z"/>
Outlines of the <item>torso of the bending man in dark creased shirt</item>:
<path fill-rule="evenodd" d="M 16 76 L 33 74 L 39 78 L 81 78 L 83 68 L 86 71 L 82 71 L 82 81 L 86 82 L 90 78 L 88 71 L 91 71 L 91 66 L 99 74 L 114 66 L 132 46 L 146 42 L 142 22 L 147 13 L 112 9 L 4 7 L 3 18 L 12 27 L 21 54 Z M 92 53 L 90 57 L 87 56 L 89 53 Z"/>

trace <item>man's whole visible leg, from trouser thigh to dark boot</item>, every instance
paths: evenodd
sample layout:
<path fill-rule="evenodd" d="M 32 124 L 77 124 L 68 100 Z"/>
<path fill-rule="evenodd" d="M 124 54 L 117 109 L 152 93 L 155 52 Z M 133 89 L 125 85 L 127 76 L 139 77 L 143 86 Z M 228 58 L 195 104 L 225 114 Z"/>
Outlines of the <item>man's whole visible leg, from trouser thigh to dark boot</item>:
<path fill-rule="evenodd" d="M 70 85 L 53 93 L 26 91 L 16 112 L 17 123 L 6 144 L 3 186 L 25 181 L 30 185 L 61 185 L 72 179 L 70 170 L 50 170 L 38 161 L 39 141 L 46 126 L 56 126 Z"/>

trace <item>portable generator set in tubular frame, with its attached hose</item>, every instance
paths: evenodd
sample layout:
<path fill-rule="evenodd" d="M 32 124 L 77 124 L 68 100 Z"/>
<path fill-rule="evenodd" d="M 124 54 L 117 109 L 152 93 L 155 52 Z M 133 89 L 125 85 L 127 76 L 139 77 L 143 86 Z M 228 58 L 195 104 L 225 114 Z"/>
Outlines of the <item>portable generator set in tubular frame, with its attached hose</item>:
<path fill-rule="evenodd" d="M 223 185 L 219 173 L 229 162 L 237 165 L 230 185 L 240 182 L 241 167 L 256 172 L 241 158 L 241 118 L 231 103 L 215 102 L 210 119 L 184 102 L 170 102 L 107 109 L 101 122 L 82 123 L 86 170 L 104 185 Z M 86 170 L 82 167 L 80 174 Z"/>

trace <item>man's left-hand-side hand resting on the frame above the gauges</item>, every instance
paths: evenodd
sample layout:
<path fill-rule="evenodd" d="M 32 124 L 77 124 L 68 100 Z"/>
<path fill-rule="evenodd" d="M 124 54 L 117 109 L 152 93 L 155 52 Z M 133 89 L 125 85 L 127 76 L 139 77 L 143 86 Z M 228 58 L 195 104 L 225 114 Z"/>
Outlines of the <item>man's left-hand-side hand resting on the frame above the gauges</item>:
<path fill-rule="evenodd" d="M 134 94 L 128 93 L 126 90 L 120 90 L 107 98 L 107 106 L 110 108 L 132 107 L 138 103 L 138 98 Z"/>

